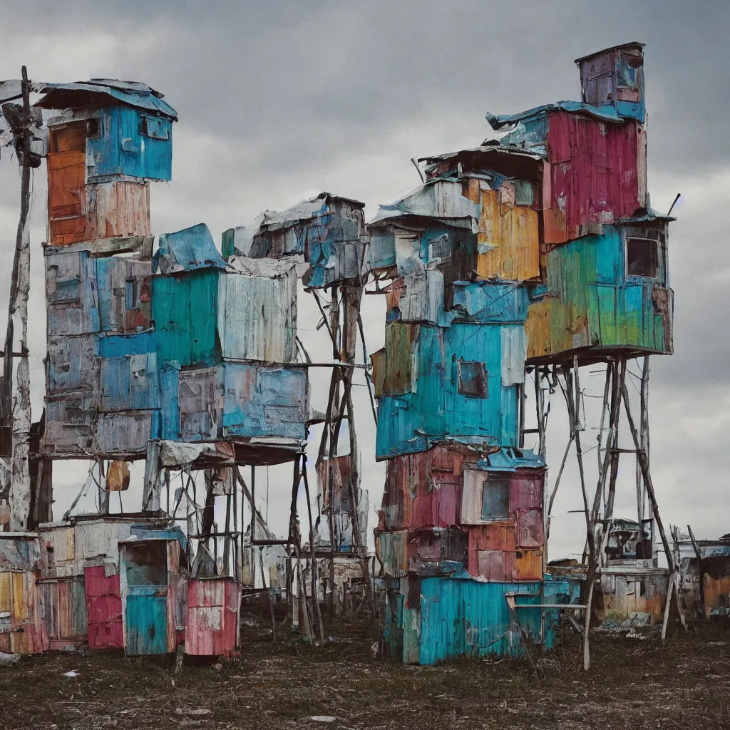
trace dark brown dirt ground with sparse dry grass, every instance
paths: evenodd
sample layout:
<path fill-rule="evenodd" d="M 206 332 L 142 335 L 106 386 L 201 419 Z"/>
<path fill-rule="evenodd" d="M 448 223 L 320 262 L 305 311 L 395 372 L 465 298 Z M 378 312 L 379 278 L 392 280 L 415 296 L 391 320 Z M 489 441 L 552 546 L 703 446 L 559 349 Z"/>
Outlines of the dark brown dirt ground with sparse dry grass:
<path fill-rule="evenodd" d="M 172 667 L 122 653 L 49 653 L 0 666 L 0 728 L 723 728 L 730 632 L 699 626 L 663 645 L 577 636 L 539 661 L 401 666 L 374 656 L 364 626 L 323 647 L 245 629 L 241 658 Z M 77 677 L 64 677 L 75 670 Z M 313 715 L 334 717 L 323 722 Z"/>

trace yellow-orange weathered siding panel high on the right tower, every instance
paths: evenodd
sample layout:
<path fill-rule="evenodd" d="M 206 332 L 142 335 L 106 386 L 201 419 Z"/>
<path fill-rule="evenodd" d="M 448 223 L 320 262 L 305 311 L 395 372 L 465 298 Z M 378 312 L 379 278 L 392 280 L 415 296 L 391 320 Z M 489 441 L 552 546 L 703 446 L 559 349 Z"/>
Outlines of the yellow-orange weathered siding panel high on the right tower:
<path fill-rule="evenodd" d="M 480 204 L 477 223 L 477 274 L 524 281 L 539 277 L 539 225 L 537 210 L 515 204 L 514 185 L 505 183 L 492 190 L 483 180 L 472 178 L 466 191 Z"/>

